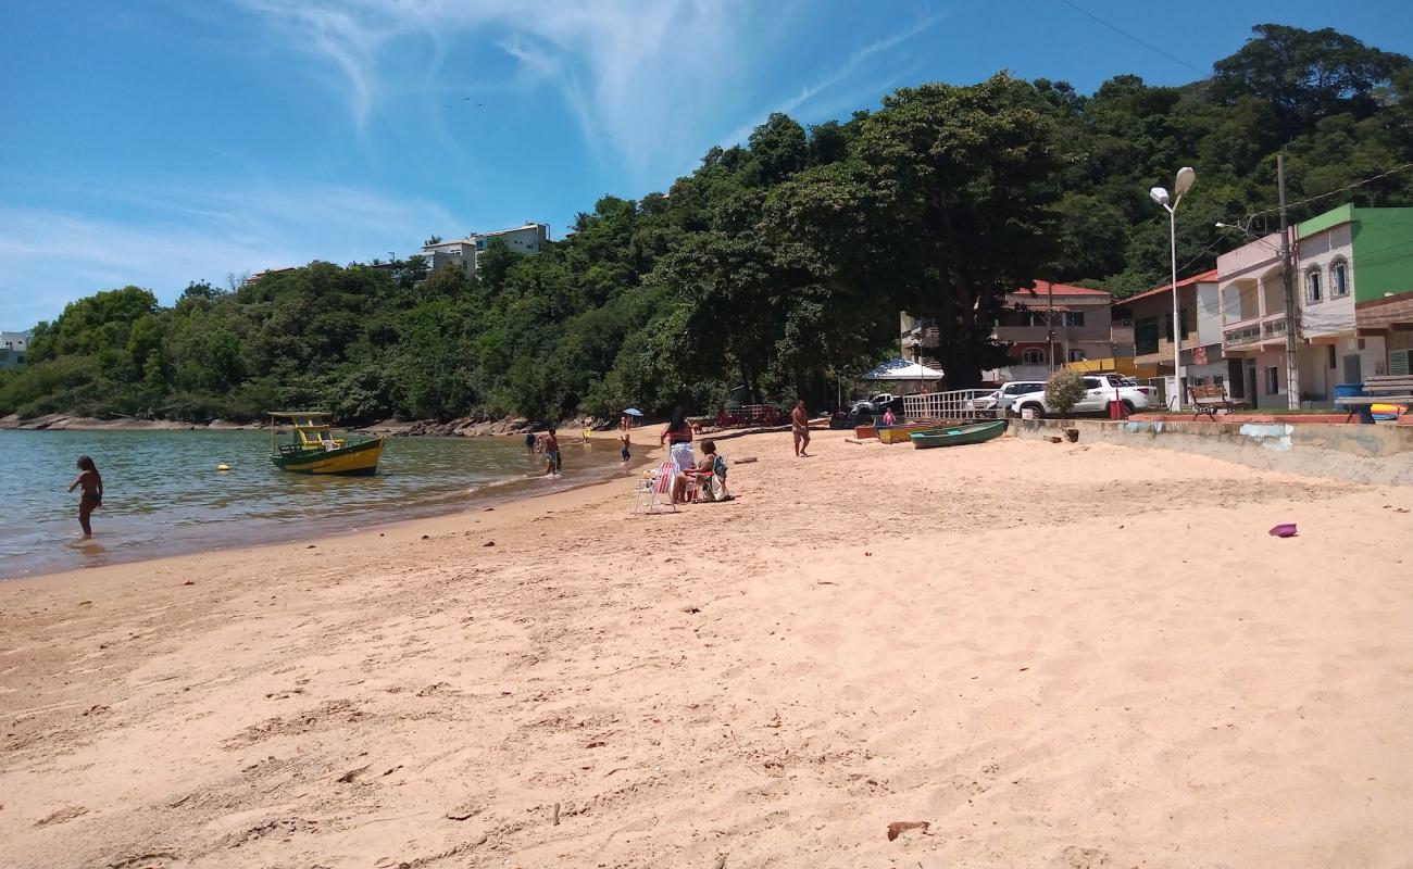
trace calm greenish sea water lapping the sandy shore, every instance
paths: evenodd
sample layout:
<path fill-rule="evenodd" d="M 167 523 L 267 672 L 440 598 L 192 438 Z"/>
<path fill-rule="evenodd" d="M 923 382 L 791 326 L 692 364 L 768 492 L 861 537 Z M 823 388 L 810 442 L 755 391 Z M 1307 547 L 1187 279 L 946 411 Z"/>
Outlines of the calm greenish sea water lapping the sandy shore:
<path fill-rule="evenodd" d="M 81 455 L 105 487 L 88 541 L 78 490 L 65 492 Z M 565 444 L 557 480 L 527 479 L 544 458 L 510 437 L 389 438 L 366 478 L 285 473 L 268 455 L 261 431 L 0 431 L 0 578 L 350 531 L 622 473 L 613 441 Z"/>

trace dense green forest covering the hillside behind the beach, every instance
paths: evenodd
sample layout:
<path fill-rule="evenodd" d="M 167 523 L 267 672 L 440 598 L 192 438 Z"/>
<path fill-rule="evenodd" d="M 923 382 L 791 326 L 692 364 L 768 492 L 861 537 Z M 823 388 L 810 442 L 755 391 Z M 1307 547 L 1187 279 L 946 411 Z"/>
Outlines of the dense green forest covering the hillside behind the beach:
<path fill-rule="evenodd" d="M 709 410 L 732 390 L 827 406 L 836 377 L 897 346 L 900 309 L 935 318 L 941 365 L 966 386 L 1005 353 L 989 335 L 1007 290 L 1166 283 L 1167 216 L 1147 189 L 1178 167 L 1198 175 L 1184 273 L 1245 242 L 1218 220 L 1273 227 L 1279 150 L 1294 219 L 1413 205 L 1413 171 L 1390 172 L 1413 162 L 1409 58 L 1267 24 L 1181 88 L 1123 75 L 1082 95 L 998 73 L 808 130 L 773 114 L 666 194 L 601 199 L 538 256 L 492 246 L 476 280 L 411 257 L 192 284 L 171 307 L 97 292 L 35 326 L 0 414 L 610 417 Z"/>

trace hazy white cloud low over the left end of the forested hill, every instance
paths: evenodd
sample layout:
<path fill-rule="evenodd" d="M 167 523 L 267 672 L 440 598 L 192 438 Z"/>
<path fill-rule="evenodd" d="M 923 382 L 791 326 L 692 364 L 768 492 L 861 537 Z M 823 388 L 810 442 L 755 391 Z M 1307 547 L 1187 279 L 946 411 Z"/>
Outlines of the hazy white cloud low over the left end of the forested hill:
<path fill-rule="evenodd" d="M 227 273 L 386 257 L 387 239 L 407 244 L 397 252 L 406 256 L 432 229 L 462 223 L 432 202 L 339 185 L 113 188 L 96 196 L 122 203 L 120 216 L 0 205 L 0 326 L 28 328 L 69 301 L 127 284 L 170 302 L 194 280 L 223 284 Z"/>

